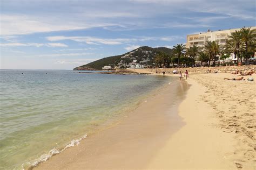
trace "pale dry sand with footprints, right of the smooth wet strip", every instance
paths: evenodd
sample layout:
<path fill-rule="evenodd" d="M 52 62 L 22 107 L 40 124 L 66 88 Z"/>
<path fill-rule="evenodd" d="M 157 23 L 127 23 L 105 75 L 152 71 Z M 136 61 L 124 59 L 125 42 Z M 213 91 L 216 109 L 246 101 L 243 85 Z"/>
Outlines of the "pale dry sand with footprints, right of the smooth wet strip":
<path fill-rule="evenodd" d="M 179 107 L 186 125 L 172 135 L 149 168 L 256 168 L 255 82 L 224 77 L 237 76 L 191 75 L 187 82 L 192 86 Z"/>

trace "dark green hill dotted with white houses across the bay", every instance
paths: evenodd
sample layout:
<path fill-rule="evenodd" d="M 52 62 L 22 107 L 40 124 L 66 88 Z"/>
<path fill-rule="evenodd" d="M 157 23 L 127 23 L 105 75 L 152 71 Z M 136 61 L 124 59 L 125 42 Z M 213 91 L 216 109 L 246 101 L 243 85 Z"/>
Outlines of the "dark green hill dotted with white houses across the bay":
<path fill-rule="evenodd" d="M 125 68 L 129 67 L 129 64 L 131 63 L 140 65 L 152 65 L 154 62 L 154 57 L 158 52 L 165 52 L 166 54 L 171 55 L 172 49 L 166 47 L 151 48 L 148 46 L 143 46 L 122 55 L 109 56 L 87 63 L 86 65 L 76 67 L 73 70 L 102 69 L 104 66 L 111 66 L 112 68 Z"/>

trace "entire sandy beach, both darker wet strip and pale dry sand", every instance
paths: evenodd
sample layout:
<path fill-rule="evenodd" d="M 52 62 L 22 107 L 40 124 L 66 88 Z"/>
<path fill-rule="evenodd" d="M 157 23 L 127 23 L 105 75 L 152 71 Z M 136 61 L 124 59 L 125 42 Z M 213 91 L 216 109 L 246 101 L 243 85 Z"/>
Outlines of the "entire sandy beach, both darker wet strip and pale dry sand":
<path fill-rule="evenodd" d="M 255 169 L 255 82 L 224 77 L 238 76 L 192 74 L 170 84 L 35 169 Z"/>

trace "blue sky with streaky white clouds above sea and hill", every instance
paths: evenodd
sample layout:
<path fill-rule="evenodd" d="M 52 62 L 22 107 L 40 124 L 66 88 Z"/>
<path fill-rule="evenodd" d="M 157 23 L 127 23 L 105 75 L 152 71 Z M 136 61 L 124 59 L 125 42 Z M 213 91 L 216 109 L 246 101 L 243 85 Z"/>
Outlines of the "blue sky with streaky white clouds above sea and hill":
<path fill-rule="evenodd" d="M 73 69 L 187 34 L 256 26 L 255 0 L 1 0 L 0 69 Z"/>

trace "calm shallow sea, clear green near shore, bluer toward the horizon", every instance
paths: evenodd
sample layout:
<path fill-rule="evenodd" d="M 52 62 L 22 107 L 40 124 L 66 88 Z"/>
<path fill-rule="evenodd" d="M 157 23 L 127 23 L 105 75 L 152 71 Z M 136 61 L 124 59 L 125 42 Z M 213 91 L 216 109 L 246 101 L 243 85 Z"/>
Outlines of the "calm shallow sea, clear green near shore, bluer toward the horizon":
<path fill-rule="evenodd" d="M 23 74 L 22 74 L 23 73 Z M 0 70 L 0 168 L 36 165 L 134 109 L 171 77 Z"/>

